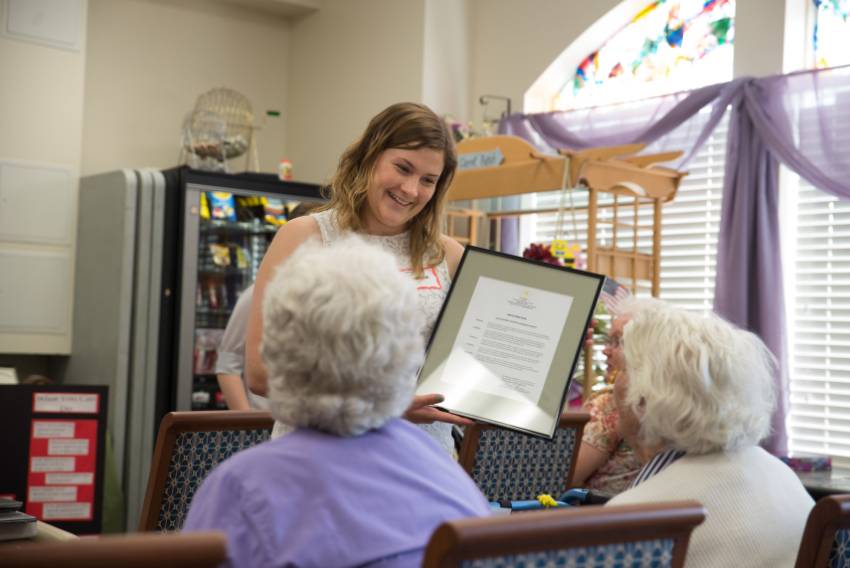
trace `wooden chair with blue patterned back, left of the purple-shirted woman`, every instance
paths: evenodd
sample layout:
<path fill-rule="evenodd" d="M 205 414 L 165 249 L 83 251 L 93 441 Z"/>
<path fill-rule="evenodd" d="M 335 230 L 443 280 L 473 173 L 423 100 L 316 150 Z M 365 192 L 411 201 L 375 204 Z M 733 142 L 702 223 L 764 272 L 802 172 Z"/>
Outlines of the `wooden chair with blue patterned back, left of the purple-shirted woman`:
<path fill-rule="evenodd" d="M 267 412 L 171 412 L 156 440 L 141 531 L 179 531 L 195 491 L 212 469 L 236 452 L 269 439 Z"/>

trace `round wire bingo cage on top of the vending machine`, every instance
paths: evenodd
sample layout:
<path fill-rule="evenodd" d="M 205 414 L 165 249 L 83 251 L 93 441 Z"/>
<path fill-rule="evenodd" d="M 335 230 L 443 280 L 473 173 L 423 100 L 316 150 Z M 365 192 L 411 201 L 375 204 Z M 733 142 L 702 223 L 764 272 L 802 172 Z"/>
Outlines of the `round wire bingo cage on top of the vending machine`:
<path fill-rule="evenodd" d="M 230 161 L 245 156 L 245 170 L 257 167 L 254 110 L 245 95 L 232 89 L 207 91 L 183 123 L 183 163 L 228 172 Z"/>

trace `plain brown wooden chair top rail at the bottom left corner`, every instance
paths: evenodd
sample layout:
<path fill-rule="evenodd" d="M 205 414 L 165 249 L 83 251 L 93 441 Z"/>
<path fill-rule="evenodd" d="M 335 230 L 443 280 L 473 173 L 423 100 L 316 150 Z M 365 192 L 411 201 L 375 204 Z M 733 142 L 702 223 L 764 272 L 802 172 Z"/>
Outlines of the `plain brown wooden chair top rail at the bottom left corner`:
<path fill-rule="evenodd" d="M 11 568 L 214 568 L 227 557 L 223 533 L 134 534 L 64 542 L 6 543 L 0 566 Z"/>

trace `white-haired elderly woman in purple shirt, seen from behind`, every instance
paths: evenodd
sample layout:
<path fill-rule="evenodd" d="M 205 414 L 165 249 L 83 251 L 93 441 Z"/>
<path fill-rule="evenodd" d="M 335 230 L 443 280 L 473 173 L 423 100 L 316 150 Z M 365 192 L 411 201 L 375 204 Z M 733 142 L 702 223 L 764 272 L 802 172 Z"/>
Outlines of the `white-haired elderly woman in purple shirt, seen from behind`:
<path fill-rule="evenodd" d="M 233 456 L 184 530 L 222 530 L 232 566 L 419 566 L 444 521 L 489 514 L 451 457 L 400 418 L 422 362 L 415 284 L 357 237 L 307 242 L 269 284 L 262 355 L 296 430 Z"/>

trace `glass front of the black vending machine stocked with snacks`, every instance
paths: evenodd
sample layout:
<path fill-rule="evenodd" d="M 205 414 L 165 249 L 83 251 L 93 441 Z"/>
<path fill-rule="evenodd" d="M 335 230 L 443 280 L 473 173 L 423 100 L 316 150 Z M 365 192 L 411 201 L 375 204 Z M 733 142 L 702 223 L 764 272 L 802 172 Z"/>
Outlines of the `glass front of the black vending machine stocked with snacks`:
<path fill-rule="evenodd" d="M 322 198 L 262 174 L 186 175 L 184 188 L 176 409 L 225 409 L 215 366 L 230 314 L 278 229 Z"/>

